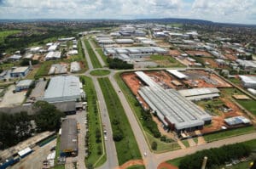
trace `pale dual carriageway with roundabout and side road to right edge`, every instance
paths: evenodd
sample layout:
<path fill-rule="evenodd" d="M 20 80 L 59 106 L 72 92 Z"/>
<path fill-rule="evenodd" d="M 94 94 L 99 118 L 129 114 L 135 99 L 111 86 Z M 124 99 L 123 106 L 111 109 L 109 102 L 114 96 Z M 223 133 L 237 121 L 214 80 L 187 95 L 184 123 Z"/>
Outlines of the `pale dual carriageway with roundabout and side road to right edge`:
<path fill-rule="evenodd" d="M 101 56 L 96 52 L 96 49 L 95 49 L 94 45 L 92 44 L 92 42 L 90 42 L 90 45 L 93 48 L 94 52 L 96 53 L 97 59 L 100 61 L 101 64 L 103 63 L 102 65 L 105 65 L 105 63 L 102 61 Z M 93 66 L 90 62 L 90 57 L 89 57 L 89 54 L 87 53 L 86 48 L 84 46 L 83 39 L 82 39 L 82 46 L 84 48 L 85 58 L 87 59 L 88 66 L 89 66 L 89 70 L 85 72 L 85 75 L 90 76 L 90 70 L 95 70 L 95 69 L 93 69 Z M 101 70 L 101 69 L 108 69 L 108 68 L 100 68 L 98 70 Z M 139 70 L 147 70 L 147 69 L 139 69 Z M 162 68 L 160 68 L 160 70 L 162 70 Z M 119 70 L 110 70 L 110 71 L 111 71 L 111 73 L 107 77 L 109 78 L 110 82 L 112 83 L 113 88 L 115 89 L 115 91 L 119 91 L 119 93 L 118 93 L 119 99 L 121 101 L 121 104 L 124 107 L 125 114 L 128 117 L 128 120 L 131 124 L 132 131 L 133 131 L 133 133 L 135 135 L 135 138 L 137 140 L 137 144 L 138 144 L 138 147 L 140 149 L 141 155 L 143 155 L 143 161 L 144 161 L 144 164 L 145 164 L 147 169 L 156 169 L 157 166 L 160 165 L 161 162 L 172 160 L 172 159 L 175 159 L 175 158 L 178 158 L 178 157 L 182 157 L 184 155 L 193 154 L 198 150 L 216 148 L 216 147 L 220 147 L 224 144 L 241 143 L 241 142 L 245 142 L 247 140 L 251 140 L 251 139 L 256 138 L 256 132 L 253 132 L 253 133 L 250 133 L 250 134 L 236 136 L 236 137 L 233 137 L 233 138 L 222 139 L 222 140 L 215 141 L 215 142 L 208 143 L 208 144 L 201 144 L 201 145 L 197 145 L 197 146 L 194 146 L 194 147 L 189 147 L 187 149 L 178 149 L 178 150 L 175 150 L 175 151 L 166 152 L 166 153 L 162 153 L 162 154 L 154 154 L 148 148 L 148 144 L 147 144 L 147 141 L 144 137 L 143 130 L 140 127 L 136 116 L 134 115 L 133 111 L 131 110 L 130 104 L 125 99 L 124 93 L 122 93 L 122 90 L 119 88 L 118 83 L 114 79 L 115 73 L 118 72 Z M 127 70 L 127 71 L 129 71 L 129 70 Z M 108 131 L 108 134 L 109 134 L 108 135 L 108 141 L 105 142 L 106 143 L 106 149 L 107 149 L 107 162 L 99 168 L 100 169 L 117 168 L 118 167 L 118 161 L 117 161 L 117 155 L 116 155 L 114 142 L 112 140 L 112 129 L 111 129 L 111 124 L 110 124 L 109 117 L 108 117 L 108 109 L 107 109 L 107 106 L 105 104 L 105 101 L 104 101 L 104 98 L 103 98 L 103 95 L 102 95 L 101 87 L 99 86 L 99 83 L 97 81 L 97 77 L 96 76 L 90 76 L 90 77 L 93 79 L 93 82 L 94 82 L 95 87 L 96 87 L 97 98 L 99 100 L 100 110 L 101 110 L 101 114 L 102 114 L 102 122 L 105 125 L 106 130 Z M 146 155 L 144 155 L 144 153 L 146 153 Z"/>

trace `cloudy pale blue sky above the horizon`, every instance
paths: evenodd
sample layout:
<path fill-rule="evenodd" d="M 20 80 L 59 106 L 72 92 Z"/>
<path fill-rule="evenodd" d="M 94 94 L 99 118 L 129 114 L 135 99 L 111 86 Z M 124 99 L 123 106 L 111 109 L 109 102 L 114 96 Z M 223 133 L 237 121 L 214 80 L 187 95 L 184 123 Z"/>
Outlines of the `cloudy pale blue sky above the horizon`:
<path fill-rule="evenodd" d="M 0 19 L 155 18 L 256 25 L 256 0 L 0 0 Z"/>

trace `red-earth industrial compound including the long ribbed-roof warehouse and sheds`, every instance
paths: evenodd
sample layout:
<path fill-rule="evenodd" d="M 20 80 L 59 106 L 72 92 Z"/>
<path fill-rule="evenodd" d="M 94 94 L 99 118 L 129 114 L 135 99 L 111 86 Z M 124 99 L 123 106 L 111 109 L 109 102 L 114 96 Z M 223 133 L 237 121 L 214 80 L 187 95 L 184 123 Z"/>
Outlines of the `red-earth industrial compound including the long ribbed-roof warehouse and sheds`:
<path fill-rule="evenodd" d="M 136 71 L 124 73 L 122 78 L 142 104 L 143 109 L 156 112 L 158 116 L 156 121 L 161 121 L 165 130 L 174 130 L 177 133 L 185 131 L 193 135 L 196 130 L 204 134 L 251 124 L 247 122 L 250 121 L 249 118 L 236 104 L 235 99 L 231 99 L 232 96 L 225 93 L 234 87 L 207 70 Z M 179 104 L 170 106 L 175 102 Z M 186 110 L 195 110 L 195 112 L 186 113 Z M 192 116 L 189 115 L 190 113 Z M 170 115 L 174 119 L 170 118 Z M 200 117 L 201 115 L 203 118 Z M 188 124 L 193 127 L 184 127 L 186 125 L 181 127 L 175 116 L 179 117 L 177 119 L 180 121 L 194 119 L 195 126 L 191 120 Z M 227 121 L 233 121 L 234 124 Z"/>

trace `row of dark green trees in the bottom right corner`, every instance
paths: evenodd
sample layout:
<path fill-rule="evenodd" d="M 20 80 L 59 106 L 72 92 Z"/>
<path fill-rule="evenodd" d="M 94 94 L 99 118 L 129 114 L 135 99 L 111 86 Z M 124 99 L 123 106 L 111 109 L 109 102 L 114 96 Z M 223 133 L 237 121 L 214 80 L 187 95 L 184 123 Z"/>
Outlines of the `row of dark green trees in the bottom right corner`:
<path fill-rule="evenodd" d="M 193 155 L 187 155 L 180 161 L 179 169 L 201 168 L 203 158 L 208 157 L 207 168 L 213 169 L 223 165 L 231 159 L 239 159 L 251 154 L 251 149 L 246 144 L 230 144 L 220 148 L 205 149 Z"/>

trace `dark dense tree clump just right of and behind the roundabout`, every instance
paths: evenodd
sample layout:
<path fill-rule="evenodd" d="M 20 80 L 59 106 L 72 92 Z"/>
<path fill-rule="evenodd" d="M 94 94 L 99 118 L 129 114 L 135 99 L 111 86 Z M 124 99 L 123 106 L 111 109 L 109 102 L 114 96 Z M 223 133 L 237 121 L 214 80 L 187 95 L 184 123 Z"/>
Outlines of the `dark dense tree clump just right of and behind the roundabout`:
<path fill-rule="evenodd" d="M 121 59 L 111 59 L 108 58 L 108 65 L 110 69 L 118 69 L 118 70 L 131 70 L 133 69 L 132 64 L 128 64 L 127 62 L 121 60 Z"/>

